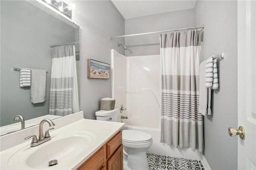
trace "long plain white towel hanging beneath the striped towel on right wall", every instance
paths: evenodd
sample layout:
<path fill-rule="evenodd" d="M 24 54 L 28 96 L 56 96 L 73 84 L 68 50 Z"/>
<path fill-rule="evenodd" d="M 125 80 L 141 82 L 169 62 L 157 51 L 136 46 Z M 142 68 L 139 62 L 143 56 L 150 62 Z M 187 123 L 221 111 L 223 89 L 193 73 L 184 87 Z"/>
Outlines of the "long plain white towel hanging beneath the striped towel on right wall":
<path fill-rule="evenodd" d="M 205 70 L 207 60 L 200 63 L 199 69 L 199 108 L 198 112 L 202 115 L 211 115 L 211 93 L 212 89 L 205 87 Z"/>

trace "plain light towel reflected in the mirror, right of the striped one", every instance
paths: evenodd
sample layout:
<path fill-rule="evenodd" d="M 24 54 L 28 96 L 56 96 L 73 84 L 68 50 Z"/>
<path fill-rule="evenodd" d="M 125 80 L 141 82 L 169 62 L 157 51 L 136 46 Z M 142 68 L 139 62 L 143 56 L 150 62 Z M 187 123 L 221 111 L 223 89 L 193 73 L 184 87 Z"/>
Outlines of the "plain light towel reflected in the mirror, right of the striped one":
<path fill-rule="evenodd" d="M 42 103 L 45 101 L 46 71 L 31 69 L 30 95 L 32 103 Z"/>

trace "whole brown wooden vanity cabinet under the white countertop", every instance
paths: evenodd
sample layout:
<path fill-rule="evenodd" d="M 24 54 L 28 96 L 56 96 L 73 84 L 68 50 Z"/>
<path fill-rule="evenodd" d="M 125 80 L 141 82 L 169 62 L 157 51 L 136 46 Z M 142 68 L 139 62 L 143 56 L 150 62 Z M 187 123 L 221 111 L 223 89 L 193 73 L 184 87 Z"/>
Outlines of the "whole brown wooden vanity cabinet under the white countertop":
<path fill-rule="evenodd" d="M 123 170 L 122 131 L 117 132 L 77 170 Z"/>

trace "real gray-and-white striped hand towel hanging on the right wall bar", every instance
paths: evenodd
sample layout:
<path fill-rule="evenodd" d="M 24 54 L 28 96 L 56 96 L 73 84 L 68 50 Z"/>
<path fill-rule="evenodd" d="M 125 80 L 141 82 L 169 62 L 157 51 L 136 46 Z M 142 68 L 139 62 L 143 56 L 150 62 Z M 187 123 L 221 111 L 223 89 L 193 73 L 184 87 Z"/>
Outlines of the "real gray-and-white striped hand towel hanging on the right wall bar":
<path fill-rule="evenodd" d="M 210 89 L 218 89 L 218 69 L 217 69 L 217 59 L 208 58 L 205 70 L 205 87 Z"/>

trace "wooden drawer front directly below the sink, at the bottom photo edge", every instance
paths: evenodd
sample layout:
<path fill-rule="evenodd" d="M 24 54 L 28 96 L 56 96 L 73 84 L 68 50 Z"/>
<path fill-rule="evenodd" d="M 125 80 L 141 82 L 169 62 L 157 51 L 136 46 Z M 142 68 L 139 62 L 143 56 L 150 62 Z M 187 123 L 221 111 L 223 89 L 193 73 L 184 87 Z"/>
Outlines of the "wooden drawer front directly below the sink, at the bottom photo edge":
<path fill-rule="evenodd" d="M 77 170 L 99 170 L 104 165 L 104 148 L 100 148 L 88 160 L 80 165 Z"/>

